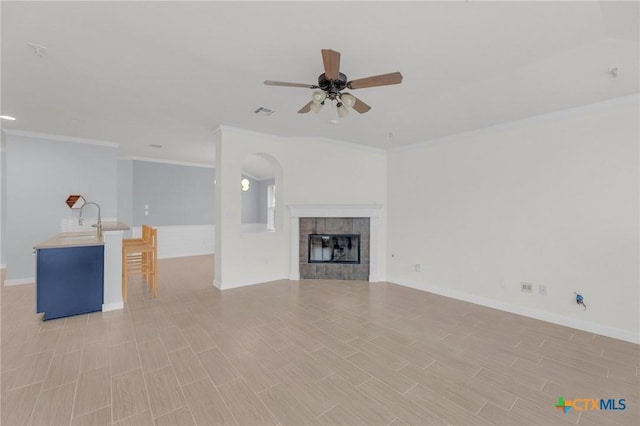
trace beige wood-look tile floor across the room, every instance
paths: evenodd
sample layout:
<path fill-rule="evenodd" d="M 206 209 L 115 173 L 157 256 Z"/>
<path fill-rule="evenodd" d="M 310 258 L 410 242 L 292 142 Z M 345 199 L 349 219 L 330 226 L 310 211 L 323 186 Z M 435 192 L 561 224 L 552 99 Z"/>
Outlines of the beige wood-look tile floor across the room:
<path fill-rule="evenodd" d="M 47 322 L 3 287 L 2 425 L 640 424 L 638 345 L 386 283 L 220 292 L 212 264 L 162 260 L 158 299 Z"/>

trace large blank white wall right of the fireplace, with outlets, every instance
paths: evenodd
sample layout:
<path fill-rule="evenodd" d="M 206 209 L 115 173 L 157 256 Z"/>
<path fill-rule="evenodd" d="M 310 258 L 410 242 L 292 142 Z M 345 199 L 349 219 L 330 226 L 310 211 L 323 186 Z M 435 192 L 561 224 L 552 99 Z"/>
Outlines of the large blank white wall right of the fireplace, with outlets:
<path fill-rule="evenodd" d="M 637 342 L 638 140 L 636 97 L 390 152 L 389 281 Z"/>

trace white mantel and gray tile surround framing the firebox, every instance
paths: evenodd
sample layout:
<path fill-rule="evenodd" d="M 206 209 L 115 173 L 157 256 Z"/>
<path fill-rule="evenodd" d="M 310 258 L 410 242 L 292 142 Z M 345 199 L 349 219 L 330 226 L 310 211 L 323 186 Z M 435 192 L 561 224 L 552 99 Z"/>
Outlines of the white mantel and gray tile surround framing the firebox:
<path fill-rule="evenodd" d="M 289 205 L 288 207 L 291 217 L 290 279 L 378 281 L 378 222 L 382 205 Z M 307 239 L 311 233 L 361 234 L 361 264 L 309 265 Z"/>

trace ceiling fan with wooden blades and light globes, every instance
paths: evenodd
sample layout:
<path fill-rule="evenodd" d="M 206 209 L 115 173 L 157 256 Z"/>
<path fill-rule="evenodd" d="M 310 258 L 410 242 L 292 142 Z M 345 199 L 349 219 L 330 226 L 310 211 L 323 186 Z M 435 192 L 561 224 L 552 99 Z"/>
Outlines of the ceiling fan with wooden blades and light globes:
<path fill-rule="evenodd" d="M 322 49 L 322 62 L 324 64 L 324 73 L 318 77 L 318 84 L 304 83 L 287 83 L 283 81 L 266 80 L 264 84 L 267 86 L 287 86 L 287 87 L 306 87 L 309 89 L 319 89 L 313 92 L 312 99 L 305 106 L 300 108 L 299 114 L 309 111 L 320 112 L 325 101 L 336 101 L 336 109 L 340 118 L 345 117 L 349 110 L 346 106 L 353 108 L 360 114 L 371 109 L 371 107 L 360 99 L 356 98 L 345 89 L 363 89 L 365 87 L 387 86 L 390 84 L 400 84 L 402 82 L 402 74 L 392 72 L 389 74 L 381 74 L 372 77 L 360 78 L 349 81 L 347 76 L 340 72 L 340 52 L 330 49 Z M 346 105 L 346 106 L 345 106 Z"/>

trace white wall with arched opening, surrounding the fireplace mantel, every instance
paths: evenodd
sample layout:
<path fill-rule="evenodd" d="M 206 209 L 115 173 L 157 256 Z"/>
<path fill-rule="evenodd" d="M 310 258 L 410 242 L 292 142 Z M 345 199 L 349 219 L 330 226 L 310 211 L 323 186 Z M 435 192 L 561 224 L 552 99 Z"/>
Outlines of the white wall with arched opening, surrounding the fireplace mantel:
<path fill-rule="evenodd" d="M 223 127 L 217 138 L 215 279 L 219 288 L 289 277 L 286 205 L 384 204 L 384 152 L 228 127 Z M 276 232 L 242 232 L 238 182 L 242 161 L 251 154 L 270 155 L 281 166 L 276 171 Z M 381 227 L 386 228 L 384 219 Z"/>

